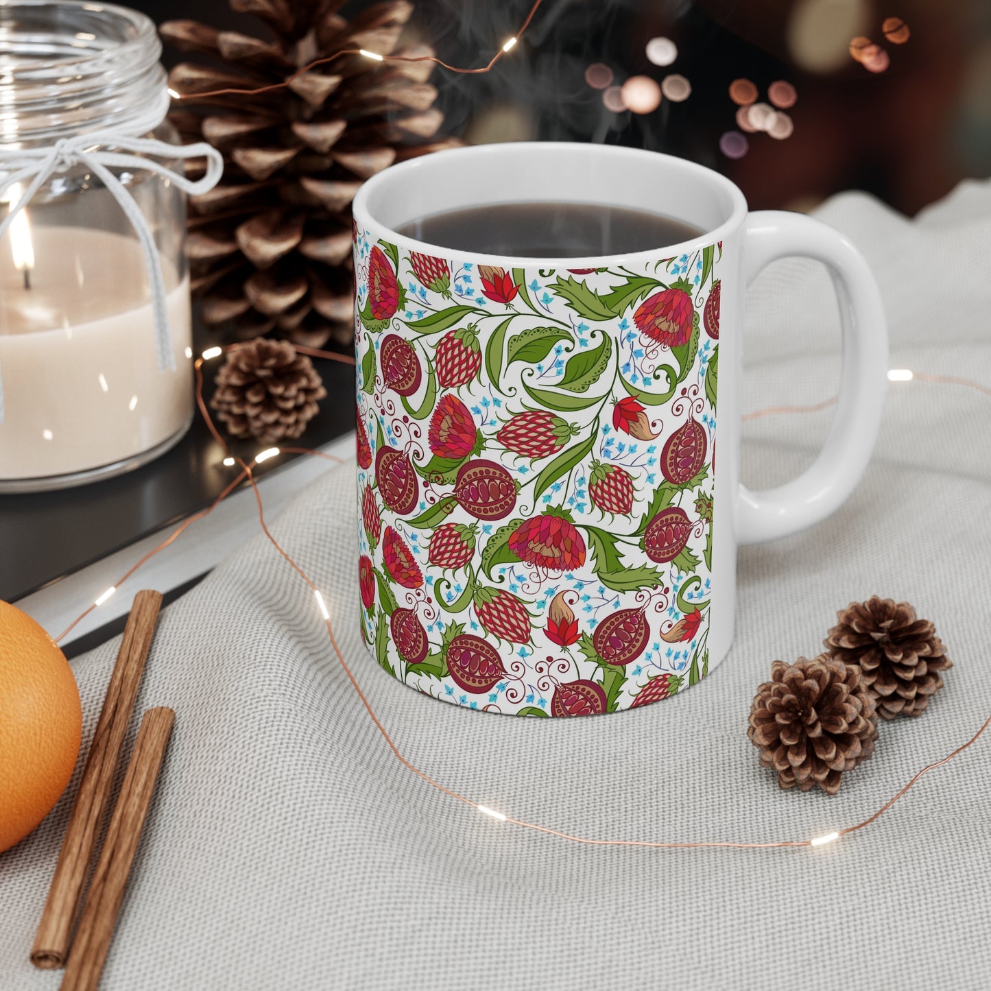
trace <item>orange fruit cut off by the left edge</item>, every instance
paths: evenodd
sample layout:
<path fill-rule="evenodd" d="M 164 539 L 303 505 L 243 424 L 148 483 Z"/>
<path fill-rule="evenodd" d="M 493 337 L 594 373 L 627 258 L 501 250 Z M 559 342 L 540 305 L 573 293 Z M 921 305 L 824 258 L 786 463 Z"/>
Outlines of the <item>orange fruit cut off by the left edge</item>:
<path fill-rule="evenodd" d="M 82 708 L 65 655 L 0 602 L 0 852 L 52 811 L 79 755 Z"/>

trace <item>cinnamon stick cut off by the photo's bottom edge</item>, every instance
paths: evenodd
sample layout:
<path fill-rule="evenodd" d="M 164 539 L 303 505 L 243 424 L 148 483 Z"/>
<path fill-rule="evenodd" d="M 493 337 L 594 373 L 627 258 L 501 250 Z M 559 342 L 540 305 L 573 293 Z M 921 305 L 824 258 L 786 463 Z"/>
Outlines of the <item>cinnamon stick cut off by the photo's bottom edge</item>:
<path fill-rule="evenodd" d="M 141 720 L 131 762 L 79 917 L 61 991 L 95 991 L 100 983 L 174 718 L 172 710 L 162 708 L 150 709 Z"/>

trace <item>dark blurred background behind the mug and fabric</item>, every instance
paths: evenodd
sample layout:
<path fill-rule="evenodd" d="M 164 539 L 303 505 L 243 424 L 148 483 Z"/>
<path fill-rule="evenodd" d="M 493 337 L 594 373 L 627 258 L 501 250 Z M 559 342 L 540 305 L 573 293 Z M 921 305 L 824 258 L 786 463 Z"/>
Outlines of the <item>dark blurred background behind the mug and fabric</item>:
<path fill-rule="evenodd" d="M 226 0 L 132 0 L 157 22 L 195 18 L 264 37 L 256 19 Z M 531 0 L 417 0 L 409 32 L 459 65 L 483 64 L 514 34 Z M 342 5 L 347 15 L 370 6 Z M 910 38 L 885 40 L 902 18 Z M 847 52 L 864 35 L 890 57 L 868 71 Z M 654 37 L 672 39 L 677 60 L 653 65 Z M 177 60 L 174 53 L 165 60 Z M 613 113 L 585 81 L 593 62 L 615 82 L 669 72 L 693 87 L 653 113 Z M 797 89 L 787 140 L 749 135 L 737 161 L 719 151 L 736 128 L 728 95 L 737 77 Z M 437 69 L 445 131 L 469 142 L 566 139 L 646 147 L 730 175 L 753 208 L 808 209 L 839 189 L 875 193 L 913 214 L 964 176 L 991 172 L 991 3 L 988 0 L 544 0 L 524 40 L 487 75 Z"/>

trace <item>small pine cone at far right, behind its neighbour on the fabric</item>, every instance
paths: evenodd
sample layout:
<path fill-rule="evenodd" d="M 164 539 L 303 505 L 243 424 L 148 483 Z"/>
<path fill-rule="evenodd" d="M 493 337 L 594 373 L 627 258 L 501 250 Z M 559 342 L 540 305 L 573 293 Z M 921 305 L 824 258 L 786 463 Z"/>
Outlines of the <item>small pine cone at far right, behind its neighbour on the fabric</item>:
<path fill-rule="evenodd" d="M 942 688 L 940 671 L 953 666 L 936 627 L 918 619 L 908 603 L 874 596 L 836 613 L 826 651 L 845 664 L 857 664 L 864 684 L 886 719 L 921 716 L 930 696 Z"/>

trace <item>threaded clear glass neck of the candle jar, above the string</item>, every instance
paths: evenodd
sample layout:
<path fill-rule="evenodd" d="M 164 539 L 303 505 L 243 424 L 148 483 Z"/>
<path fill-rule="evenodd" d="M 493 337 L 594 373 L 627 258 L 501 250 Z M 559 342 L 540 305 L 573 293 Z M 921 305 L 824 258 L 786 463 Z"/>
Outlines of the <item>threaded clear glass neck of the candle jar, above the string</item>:
<path fill-rule="evenodd" d="M 134 133 L 150 109 L 164 117 L 161 54 L 155 24 L 139 11 L 88 0 L 0 3 L 0 144 Z"/>

